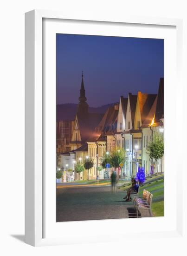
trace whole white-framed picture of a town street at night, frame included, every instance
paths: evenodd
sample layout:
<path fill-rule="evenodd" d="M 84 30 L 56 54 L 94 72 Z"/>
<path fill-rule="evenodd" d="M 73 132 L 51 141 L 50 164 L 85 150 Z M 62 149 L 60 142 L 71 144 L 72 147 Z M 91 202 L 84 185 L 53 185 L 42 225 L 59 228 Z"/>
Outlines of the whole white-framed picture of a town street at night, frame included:
<path fill-rule="evenodd" d="M 181 236 L 181 45 L 179 19 L 26 13 L 26 243 Z"/>

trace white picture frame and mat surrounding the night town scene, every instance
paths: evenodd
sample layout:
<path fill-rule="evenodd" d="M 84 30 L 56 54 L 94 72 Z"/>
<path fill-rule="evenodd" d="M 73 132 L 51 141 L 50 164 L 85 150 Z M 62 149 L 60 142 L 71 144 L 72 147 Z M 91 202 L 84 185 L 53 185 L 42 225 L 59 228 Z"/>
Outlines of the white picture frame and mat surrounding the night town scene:
<path fill-rule="evenodd" d="M 53 24 L 49 26 L 45 23 L 47 19 L 52 20 Z M 54 49 L 53 53 L 50 56 L 45 56 L 45 50 L 47 47 L 54 46 L 54 41 L 50 41 L 51 35 L 50 33 L 62 33 L 60 32 L 61 28 L 57 27 L 59 21 L 64 21 L 67 24 L 67 27 L 64 27 L 64 33 L 75 33 L 75 29 L 88 33 L 89 26 L 92 26 L 94 31 L 102 28 L 102 26 L 112 26 L 112 27 L 123 27 L 126 26 L 126 30 L 128 31 L 128 26 L 130 27 L 129 36 L 135 27 L 136 33 L 140 33 L 137 37 L 141 36 L 141 30 L 137 30 L 138 28 L 145 29 L 145 34 L 143 37 L 154 37 L 154 31 L 156 34 L 156 30 L 158 33 L 161 33 L 161 38 L 167 40 L 172 40 L 170 44 L 168 44 L 167 49 L 165 49 L 164 60 L 167 62 L 167 67 L 165 67 L 164 78 L 165 86 L 167 88 L 167 84 L 171 85 L 171 97 L 175 96 L 176 104 L 172 105 L 171 99 L 168 96 L 166 100 L 165 111 L 168 113 L 168 117 L 166 116 L 166 136 L 165 136 L 165 145 L 167 147 L 167 154 L 165 154 L 165 168 L 167 170 L 167 159 L 171 157 L 171 140 L 169 140 L 169 136 L 171 136 L 170 124 L 171 121 L 174 123 L 178 123 L 182 117 L 182 112 L 179 109 L 181 107 L 181 93 L 182 93 L 182 20 L 180 19 L 167 19 L 167 18 L 153 18 L 153 17 L 133 17 L 133 16 L 125 16 L 119 17 L 119 19 L 114 19 L 109 17 L 108 19 L 102 19 L 99 17 L 95 17 L 93 19 L 86 17 L 69 17 L 64 15 L 61 12 L 55 11 L 38 11 L 34 10 L 26 13 L 25 19 L 25 39 L 26 39 L 26 184 L 25 184 L 25 195 L 26 195 L 26 206 L 25 206 L 25 235 L 26 235 L 26 243 L 31 244 L 33 246 L 42 246 L 42 245 L 54 245 L 54 244 L 70 244 L 70 243 L 93 243 L 93 242 L 109 242 L 114 240 L 114 234 L 119 234 L 121 239 L 124 239 L 128 236 L 130 226 L 132 222 L 135 222 L 135 225 L 138 227 L 137 232 L 133 233 L 133 236 L 137 238 L 140 232 L 143 232 L 144 236 L 149 236 L 151 234 L 152 238 L 157 236 L 163 237 L 179 237 L 182 236 L 182 211 L 181 206 L 183 204 L 182 201 L 182 188 L 181 188 L 181 175 L 180 177 L 176 176 L 176 166 L 182 170 L 182 162 L 177 163 L 176 160 L 173 162 L 173 166 L 171 167 L 170 173 L 165 172 L 165 191 L 166 198 L 169 198 L 169 195 L 166 189 L 170 189 L 171 183 L 174 187 L 174 191 L 172 192 L 173 204 L 171 204 L 168 200 L 164 207 L 168 208 L 168 212 L 170 211 L 171 216 L 161 217 L 161 218 L 145 218 L 142 220 L 105 220 L 105 221 L 86 221 L 86 222 L 58 222 L 54 223 L 54 211 L 55 211 L 55 198 L 54 198 L 54 184 L 55 179 L 52 181 L 52 176 L 46 175 L 45 168 L 46 166 L 54 165 L 54 157 L 51 162 L 48 162 L 46 165 L 46 155 L 50 154 L 48 151 L 54 150 L 54 137 L 55 137 L 55 116 L 54 111 L 56 105 L 54 104 L 54 96 L 55 89 L 54 86 L 48 87 L 49 89 L 45 89 L 45 83 L 48 82 L 48 79 L 52 81 L 54 85 L 54 71 L 55 65 L 51 66 L 51 71 L 48 77 L 44 74 L 44 69 L 49 68 L 47 63 L 54 64 Z M 55 24 L 55 22 L 57 22 Z M 80 23 L 82 24 L 81 26 Z M 77 25 L 76 27 L 76 24 Z M 54 30 L 54 26 L 58 30 Z M 62 24 L 60 25 L 62 27 Z M 149 27 L 149 28 L 148 28 Z M 162 28 L 167 28 L 168 32 L 165 30 L 162 31 Z M 47 36 L 45 37 L 45 29 L 48 29 Z M 105 29 L 106 27 L 104 27 Z M 112 28 L 110 27 L 111 31 Z M 120 30 L 120 29 L 119 29 Z M 103 31 L 97 32 L 97 34 L 103 34 Z M 107 35 L 113 32 L 106 32 Z M 116 29 L 116 33 L 122 33 Z M 151 32 L 152 31 L 152 32 Z M 170 33 L 170 32 L 171 33 Z M 126 32 L 128 33 L 128 32 Z M 93 33 L 92 33 L 93 34 Z M 146 35 L 147 34 L 147 35 Z M 151 36 L 152 34 L 152 36 Z M 111 34 L 110 34 L 111 35 Z M 119 35 L 119 34 L 118 34 Z M 128 36 L 126 34 L 126 36 Z M 48 46 L 45 45 L 45 39 L 48 39 Z M 51 44 L 51 45 L 50 45 Z M 175 48 L 176 47 L 176 48 Z M 171 54 L 169 54 L 171 53 Z M 44 61 L 45 58 L 45 61 Z M 169 72 L 172 71 L 172 72 Z M 171 74 L 170 74 L 171 73 Z M 177 90 L 180 92 L 176 94 L 176 81 L 178 82 Z M 166 89 L 167 90 L 167 89 Z M 167 94 L 166 94 L 167 95 Z M 46 102 L 49 102 L 49 97 L 52 97 L 51 105 L 48 106 Z M 48 106 L 48 107 L 47 107 Z M 48 108 L 47 118 L 46 118 L 46 109 Z M 170 111 L 167 112 L 171 108 Z M 49 111 L 49 109 L 51 109 Z M 166 114 L 167 115 L 167 114 Z M 172 118 L 172 120 L 171 120 Z M 54 122 L 52 122 L 52 120 Z M 50 125 L 50 123 L 52 125 Z M 45 129 L 46 125 L 49 127 L 47 130 Z M 168 130 L 167 130 L 168 127 Z M 47 135 L 54 132 L 54 136 L 52 141 L 47 140 Z M 181 127 L 174 125 L 174 134 L 173 140 L 175 143 L 180 145 L 181 141 L 179 139 L 178 134 L 181 133 Z M 168 144 L 168 146 L 167 146 Z M 51 151 L 52 152 L 52 151 Z M 179 154 L 179 153 L 176 153 Z M 180 157 L 180 155 L 178 155 Z M 177 157 L 177 156 L 176 156 Z M 50 172 L 51 173 L 51 172 Z M 52 174 L 52 173 L 51 173 Z M 172 175 L 173 176 L 172 176 Z M 174 178 L 176 176 L 176 178 Z M 166 179 L 167 178 L 167 179 Z M 54 182 L 54 183 L 53 183 Z M 174 184 L 173 184 L 174 183 Z M 47 189 L 46 189 L 47 188 Z M 51 190 L 50 190 L 51 188 Z M 47 193 L 47 191 L 52 191 Z M 176 195 L 181 195 L 176 200 Z M 50 203 L 49 203 L 50 202 Z M 170 203 L 170 204 L 169 204 Z M 52 210 L 49 208 L 49 204 L 52 205 Z M 173 210 L 172 210 L 173 206 Z M 180 207 L 179 207 L 180 206 Z M 166 211 L 167 212 L 167 211 Z M 47 214 L 46 214 L 47 213 Z M 51 221 L 51 219 L 53 219 Z M 128 223 L 130 221 L 130 223 Z M 104 232 L 100 231 L 98 233 L 97 224 L 104 227 Z M 125 223 L 126 230 L 116 230 L 115 226 L 123 225 Z M 159 227 L 160 223 L 160 227 Z M 153 229 L 150 229 L 150 224 Z M 107 228 L 109 227 L 110 228 Z M 82 231 L 77 230 L 82 229 Z M 74 235 L 68 232 L 68 229 L 75 229 Z M 92 230 L 89 234 L 89 229 Z M 143 230 L 142 230 L 143 229 Z M 61 234 L 61 230 L 65 230 L 64 234 Z M 152 231 L 152 232 L 151 232 Z M 70 239 L 71 237 L 71 239 Z"/>

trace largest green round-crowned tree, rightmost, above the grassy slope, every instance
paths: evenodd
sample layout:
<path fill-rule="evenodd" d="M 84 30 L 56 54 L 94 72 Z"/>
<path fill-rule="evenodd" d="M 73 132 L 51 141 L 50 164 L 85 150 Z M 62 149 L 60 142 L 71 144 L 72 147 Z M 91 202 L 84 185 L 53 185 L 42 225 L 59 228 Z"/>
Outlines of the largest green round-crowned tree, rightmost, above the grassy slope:
<path fill-rule="evenodd" d="M 148 143 L 147 152 L 149 155 L 149 159 L 153 161 L 155 159 L 156 162 L 156 170 L 158 175 L 158 160 L 161 159 L 164 155 L 164 140 L 163 135 L 156 132 L 153 136 L 153 140 Z"/>

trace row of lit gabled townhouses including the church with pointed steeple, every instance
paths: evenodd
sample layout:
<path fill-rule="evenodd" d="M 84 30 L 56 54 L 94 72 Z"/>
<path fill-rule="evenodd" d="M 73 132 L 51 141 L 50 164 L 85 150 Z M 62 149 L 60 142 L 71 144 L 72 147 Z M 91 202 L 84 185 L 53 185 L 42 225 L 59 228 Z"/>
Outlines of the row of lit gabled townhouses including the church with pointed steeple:
<path fill-rule="evenodd" d="M 124 149 L 123 177 L 135 176 L 138 166 L 143 166 L 146 175 L 155 171 L 155 160 L 150 160 L 148 142 L 155 132 L 163 132 L 164 125 L 164 83 L 160 79 L 158 94 L 137 95 L 129 93 L 128 98 L 120 97 L 119 103 L 110 106 L 104 115 L 88 112 L 84 81 L 71 137 L 71 150 L 61 154 L 60 168 L 66 171 L 64 181 L 87 180 L 109 177 L 112 169 L 98 172 L 103 155 L 116 148 Z M 77 162 L 84 163 L 86 157 L 94 160 L 94 167 L 77 177 L 68 173 Z M 163 159 L 157 164 L 163 172 Z M 71 178 L 70 178 L 71 175 Z"/>

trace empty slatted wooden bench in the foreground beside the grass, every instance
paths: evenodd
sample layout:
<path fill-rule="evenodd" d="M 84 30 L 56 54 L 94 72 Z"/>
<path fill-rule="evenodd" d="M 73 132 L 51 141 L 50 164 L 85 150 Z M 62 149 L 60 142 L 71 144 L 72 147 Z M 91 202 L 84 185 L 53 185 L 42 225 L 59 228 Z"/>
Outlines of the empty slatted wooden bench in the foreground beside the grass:
<path fill-rule="evenodd" d="M 143 190 L 142 198 L 134 197 L 133 207 L 136 207 L 136 214 L 138 216 L 138 212 L 141 213 L 141 216 L 148 217 L 153 216 L 152 214 L 152 199 L 153 194 L 151 194 L 148 190 Z"/>

